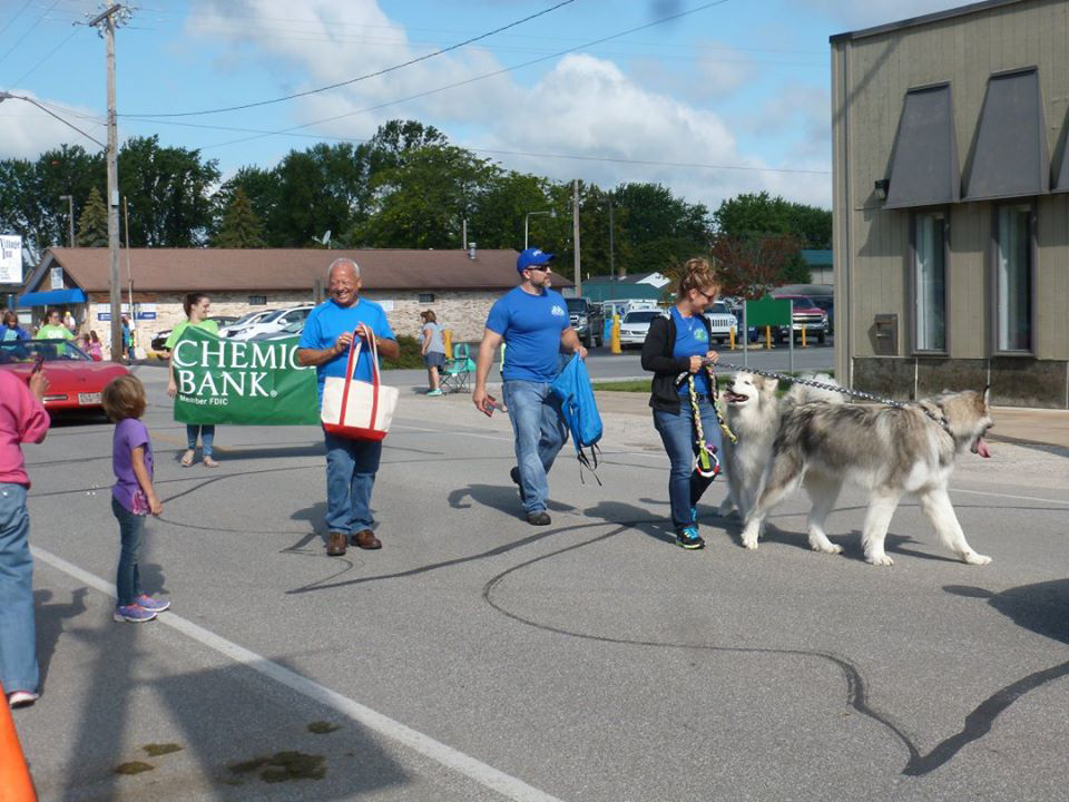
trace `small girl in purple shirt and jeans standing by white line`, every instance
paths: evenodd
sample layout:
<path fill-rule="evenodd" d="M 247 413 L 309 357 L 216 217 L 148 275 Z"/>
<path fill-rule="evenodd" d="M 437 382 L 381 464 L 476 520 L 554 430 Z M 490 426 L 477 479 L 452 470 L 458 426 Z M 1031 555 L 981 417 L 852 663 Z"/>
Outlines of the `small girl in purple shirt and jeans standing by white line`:
<path fill-rule="evenodd" d="M 111 511 L 119 521 L 122 548 L 115 587 L 118 604 L 115 620 L 143 623 L 170 607 L 170 602 L 141 593 L 138 559 L 145 535 L 145 516 L 159 516 L 164 505 L 153 487 L 153 444 L 140 418 L 145 413 L 145 388 L 131 375 L 112 379 L 104 389 L 104 411 L 115 421 L 111 440 Z"/>

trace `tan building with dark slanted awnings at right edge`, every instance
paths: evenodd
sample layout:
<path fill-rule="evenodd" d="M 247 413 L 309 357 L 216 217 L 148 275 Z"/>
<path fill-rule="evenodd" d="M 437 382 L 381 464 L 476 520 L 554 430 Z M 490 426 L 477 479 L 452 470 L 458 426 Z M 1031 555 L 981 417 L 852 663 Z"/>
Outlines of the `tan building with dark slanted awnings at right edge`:
<path fill-rule="evenodd" d="M 831 46 L 837 375 L 1069 407 L 1069 0 Z"/>

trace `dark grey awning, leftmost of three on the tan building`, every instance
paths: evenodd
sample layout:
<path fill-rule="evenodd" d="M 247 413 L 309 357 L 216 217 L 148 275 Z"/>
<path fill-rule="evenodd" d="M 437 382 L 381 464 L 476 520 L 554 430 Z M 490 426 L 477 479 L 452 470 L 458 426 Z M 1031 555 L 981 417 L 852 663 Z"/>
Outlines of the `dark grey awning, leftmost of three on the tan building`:
<path fill-rule="evenodd" d="M 887 178 L 884 208 L 959 200 L 961 172 L 949 84 L 905 94 Z"/>

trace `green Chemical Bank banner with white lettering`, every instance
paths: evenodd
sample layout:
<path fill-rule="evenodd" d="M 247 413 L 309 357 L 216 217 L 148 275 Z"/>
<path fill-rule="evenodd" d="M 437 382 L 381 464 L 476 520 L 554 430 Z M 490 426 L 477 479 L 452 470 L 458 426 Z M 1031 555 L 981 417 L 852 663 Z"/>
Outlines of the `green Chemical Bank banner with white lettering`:
<path fill-rule="evenodd" d="M 297 341 L 242 342 L 189 326 L 171 353 L 175 420 L 318 426 L 315 368 L 297 364 Z"/>

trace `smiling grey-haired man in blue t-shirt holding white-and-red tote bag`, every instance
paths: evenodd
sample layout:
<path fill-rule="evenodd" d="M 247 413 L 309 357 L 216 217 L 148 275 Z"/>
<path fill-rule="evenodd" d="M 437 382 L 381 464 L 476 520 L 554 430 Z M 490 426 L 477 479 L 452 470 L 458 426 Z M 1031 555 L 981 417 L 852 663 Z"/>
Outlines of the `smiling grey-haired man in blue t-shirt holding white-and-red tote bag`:
<path fill-rule="evenodd" d="M 334 260 L 327 272 L 324 301 L 308 314 L 297 343 L 297 362 L 314 365 L 320 403 L 326 376 L 344 376 L 353 333 L 379 353 L 398 359 L 401 346 L 393 335 L 382 306 L 360 297 L 360 266 L 347 258 Z M 353 376 L 372 381 L 371 351 L 364 348 L 356 360 Z M 382 548 L 372 531 L 371 491 L 375 486 L 381 441 L 345 440 L 326 431 L 326 554 L 341 557 L 346 542 L 363 549 Z"/>

